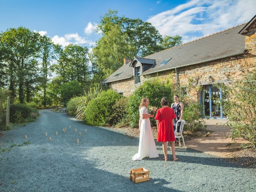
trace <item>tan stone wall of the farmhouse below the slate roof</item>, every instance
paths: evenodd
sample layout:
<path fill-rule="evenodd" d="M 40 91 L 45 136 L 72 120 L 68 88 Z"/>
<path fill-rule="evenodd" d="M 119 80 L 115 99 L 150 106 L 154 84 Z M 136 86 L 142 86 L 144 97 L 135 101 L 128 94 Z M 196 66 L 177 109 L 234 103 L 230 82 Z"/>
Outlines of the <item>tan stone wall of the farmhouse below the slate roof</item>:
<path fill-rule="evenodd" d="M 178 87 L 188 87 L 188 80 L 193 78 L 198 80 L 198 85 L 236 82 L 237 80 L 243 79 L 246 74 L 255 69 L 256 33 L 245 36 L 245 45 L 246 51 L 244 54 L 177 68 L 178 77 L 176 77 L 175 70 L 140 76 L 141 83 L 155 77 L 163 81 L 170 80 L 174 88 L 176 88 L 176 78 L 178 78 Z M 110 88 L 117 92 L 122 92 L 124 96 L 129 96 L 140 84 L 135 84 L 135 79 L 130 78 L 120 82 L 112 82 L 110 83 Z M 195 101 L 200 101 L 200 92 L 195 89 L 191 89 L 188 94 Z"/>

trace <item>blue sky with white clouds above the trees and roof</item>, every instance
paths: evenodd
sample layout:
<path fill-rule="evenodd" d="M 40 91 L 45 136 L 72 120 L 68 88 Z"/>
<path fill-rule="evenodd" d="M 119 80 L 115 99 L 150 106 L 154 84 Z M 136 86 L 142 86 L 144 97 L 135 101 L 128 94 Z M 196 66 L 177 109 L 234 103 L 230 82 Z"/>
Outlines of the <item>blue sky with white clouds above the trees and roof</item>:
<path fill-rule="evenodd" d="M 0 0 L 0 32 L 26 27 L 52 38 L 91 48 L 108 10 L 150 22 L 161 35 L 189 42 L 250 21 L 256 0 Z"/>

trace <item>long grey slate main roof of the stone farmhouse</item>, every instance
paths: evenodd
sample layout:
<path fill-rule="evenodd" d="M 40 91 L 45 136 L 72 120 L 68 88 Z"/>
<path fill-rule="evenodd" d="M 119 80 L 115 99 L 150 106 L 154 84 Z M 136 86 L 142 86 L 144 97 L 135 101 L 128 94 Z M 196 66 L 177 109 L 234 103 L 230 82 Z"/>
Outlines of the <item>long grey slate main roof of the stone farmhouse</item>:
<path fill-rule="evenodd" d="M 245 50 L 244 36 L 238 34 L 246 24 L 236 26 L 210 36 L 194 40 L 151 54 L 144 58 L 155 60 L 155 65 L 152 68 L 144 71 L 141 75 L 152 74 L 160 71 L 170 70 L 183 66 L 204 63 L 220 58 L 226 58 L 238 54 L 242 54 Z M 168 58 L 171 58 L 164 65 L 160 63 Z M 141 60 L 142 61 L 142 60 Z M 142 62 L 143 63 L 143 62 Z M 118 72 L 122 72 L 119 76 L 114 77 Z M 122 79 L 131 78 L 133 76 L 133 67 L 129 64 L 122 66 L 102 83 L 114 82 Z"/>

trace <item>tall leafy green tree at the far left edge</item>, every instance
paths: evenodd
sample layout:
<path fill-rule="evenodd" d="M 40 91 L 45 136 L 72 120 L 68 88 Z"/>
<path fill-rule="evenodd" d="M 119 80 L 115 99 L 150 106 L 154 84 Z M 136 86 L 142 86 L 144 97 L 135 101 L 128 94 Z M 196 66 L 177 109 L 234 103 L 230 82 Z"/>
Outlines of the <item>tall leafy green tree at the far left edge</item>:
<path fill-rule="evenodd" d="M 5 48 L 5 60 L 11 68 L 11 76 L 15 75 L 18 78 L 18 94 L 20 103 L 24 102 L 24 76 L 31 69 L 27 65 L 27 61 L 39 51 L 38 44 L 39 34 L 31 32 L 27 28 L 18 27 L 10 28 L 3 32 L 0 36 L 0 44 Z M 10 77 L 11 77 L 10 76 Z M 10 79 L 10 84 L 12 84 Z"/>

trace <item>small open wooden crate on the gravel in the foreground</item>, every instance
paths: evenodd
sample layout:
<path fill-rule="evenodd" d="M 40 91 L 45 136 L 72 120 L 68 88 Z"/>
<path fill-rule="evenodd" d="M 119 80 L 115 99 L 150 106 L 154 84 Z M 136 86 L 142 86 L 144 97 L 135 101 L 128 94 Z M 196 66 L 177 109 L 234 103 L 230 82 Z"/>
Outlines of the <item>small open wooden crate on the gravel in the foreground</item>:
<path fill-rule="evenodd" d="M 149 181 L 149 179 L 149 170 L 143 167 L 130 170 L 130 180 L 134 181 L 134 183 Z"/>

